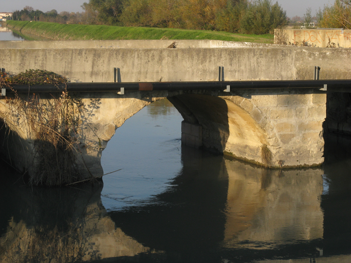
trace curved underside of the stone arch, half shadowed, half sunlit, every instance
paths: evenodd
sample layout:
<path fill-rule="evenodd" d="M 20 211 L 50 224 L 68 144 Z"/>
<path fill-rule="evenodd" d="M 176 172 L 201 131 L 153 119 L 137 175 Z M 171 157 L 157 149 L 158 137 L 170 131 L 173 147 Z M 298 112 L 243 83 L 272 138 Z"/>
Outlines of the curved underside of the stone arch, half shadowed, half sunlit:
<path fill-rule="evenodd" d="M 184 121 L 194 125 L 192 129 L 201 126 L 205 148 L 245 161 L 272 165 L 262 158 L 261 150 L 272 142 L 272 133 L 266 132 L 272 129 L 264 113 L 249 100 L 200 94 L 183 94 L 169 100 Z M 183 133 L 188 136 L 189 132 L 183 130 Z"/>

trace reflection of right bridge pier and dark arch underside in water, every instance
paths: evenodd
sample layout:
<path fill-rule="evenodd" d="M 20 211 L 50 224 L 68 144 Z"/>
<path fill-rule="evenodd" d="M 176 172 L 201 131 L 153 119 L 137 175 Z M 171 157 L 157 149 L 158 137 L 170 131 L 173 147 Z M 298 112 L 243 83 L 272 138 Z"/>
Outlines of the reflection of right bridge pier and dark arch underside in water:
<path fill-rule="evenodd" d="M 187 147 L 182 163 L 154 203 L 109 213 L 125 234 L 159 251 L 143 253 L 143 262 L 319 255 L 322 170 L 265 170 Z"/>

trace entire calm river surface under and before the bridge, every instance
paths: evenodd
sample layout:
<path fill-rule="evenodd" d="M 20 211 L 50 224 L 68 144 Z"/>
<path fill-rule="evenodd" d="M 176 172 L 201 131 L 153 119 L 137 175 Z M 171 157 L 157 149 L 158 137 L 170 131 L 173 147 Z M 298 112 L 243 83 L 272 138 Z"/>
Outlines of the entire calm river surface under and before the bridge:
<path fill-rule="evenodd" d="M 267 170 L 182 146 L 181 121 L 167 100 L 126 120 L 103 185 L 29 187 L 1 162 L 0 262 L 351 261 L 349 138 Z"/>

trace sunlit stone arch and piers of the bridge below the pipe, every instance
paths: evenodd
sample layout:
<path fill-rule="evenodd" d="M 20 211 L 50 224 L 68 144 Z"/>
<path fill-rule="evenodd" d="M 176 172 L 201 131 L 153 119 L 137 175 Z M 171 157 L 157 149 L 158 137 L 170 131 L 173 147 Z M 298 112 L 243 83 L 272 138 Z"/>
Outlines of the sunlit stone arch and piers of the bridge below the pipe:
<path fill-rule="evenodd" d="M 103 174 L 102 151 L 116 129 L 144 106 L 164 98 L 183 116 L 185 144 L 273 167 L 313 166 L 324 160 L 322 123 L 326 96 L 313 90 L 250 91 L 249 96 L 197 90 L 135 91 L 125 95 L 85 92 L 71 96 L 84 105 L 77 130 L 76 159 L 86 178 Z M 4 103 L 5 100 L 0 102 L 0 112 L 6 107 Z M 3 120 L 18 135 L 11 142 L 13 153 L 9 155 L 16 158 L 17 166 L 28 170 L 28 164 L 35 164 L 35 156 L 31 156 L 34 140 L 25 127 L 11 126 L 10 118 Z"/>

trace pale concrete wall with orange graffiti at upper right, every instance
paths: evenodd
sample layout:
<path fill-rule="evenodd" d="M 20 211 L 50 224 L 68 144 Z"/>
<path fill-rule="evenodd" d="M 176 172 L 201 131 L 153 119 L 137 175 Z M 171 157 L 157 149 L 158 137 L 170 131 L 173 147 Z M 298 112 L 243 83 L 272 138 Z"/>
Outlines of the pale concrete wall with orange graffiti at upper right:
<path fill-rule="evenodd" d="M 279 29 L 275 29 L 279 30 Z M 351 47 L 351 30 L 344 29 L 284 29 L 287 44 L 300 46 L 303 42 L 313 47 L 327 47 L 331 43 L 331 47 Z M 276 36 L 276 31 L 274 32 Z M 276 41 L 276 39 L 275 39 Z"/>

